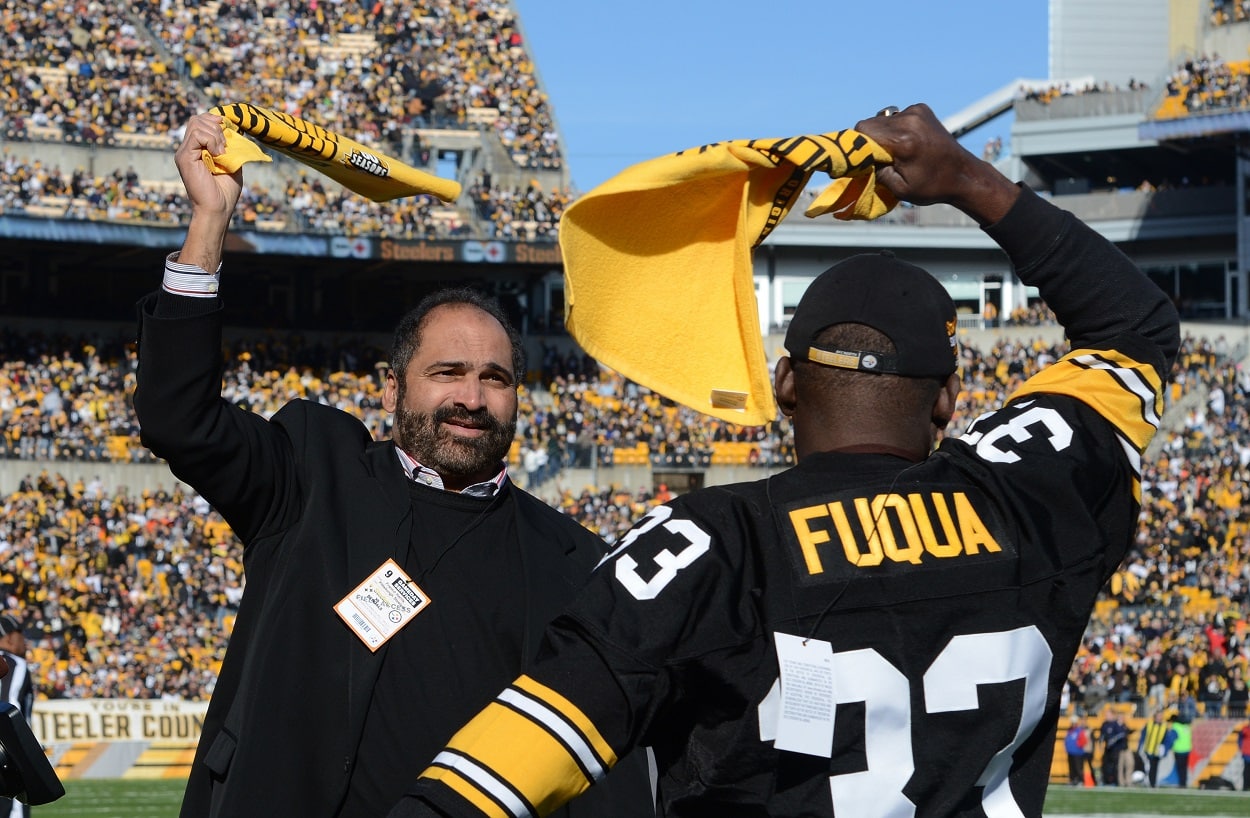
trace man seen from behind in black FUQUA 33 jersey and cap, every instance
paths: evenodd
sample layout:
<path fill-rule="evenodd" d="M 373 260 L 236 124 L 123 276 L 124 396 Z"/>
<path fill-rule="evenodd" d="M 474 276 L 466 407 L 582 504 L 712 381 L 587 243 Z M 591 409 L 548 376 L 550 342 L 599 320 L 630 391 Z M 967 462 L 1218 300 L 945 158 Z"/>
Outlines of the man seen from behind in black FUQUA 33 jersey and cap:
<path fill-rule="evenodd" d="M 924 105 L 855 126 L 905 201 L 972 216 L 1071 351 L 934 450 L 955 306 L 890 254 L 802 296 L 774 388 L 799 464 L 650 510 L 532 672 L 390 813 L 540 815 L 654 748 L 668 815 L 1040 815 L 1059 697 L 1129 548 L 1176 311 Z"/>

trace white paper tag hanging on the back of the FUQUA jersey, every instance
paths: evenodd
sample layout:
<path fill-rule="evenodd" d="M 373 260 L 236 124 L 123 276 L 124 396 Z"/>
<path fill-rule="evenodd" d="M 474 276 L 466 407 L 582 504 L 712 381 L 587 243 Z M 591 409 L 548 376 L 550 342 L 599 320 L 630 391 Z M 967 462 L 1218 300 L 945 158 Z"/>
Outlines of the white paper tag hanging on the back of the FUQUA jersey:
<path fill-rule="evenodd" d="M 774 633 L 781 700 L 772 745 L 829 758 L 834 745 L 834 648 L 820 639 Z"/>

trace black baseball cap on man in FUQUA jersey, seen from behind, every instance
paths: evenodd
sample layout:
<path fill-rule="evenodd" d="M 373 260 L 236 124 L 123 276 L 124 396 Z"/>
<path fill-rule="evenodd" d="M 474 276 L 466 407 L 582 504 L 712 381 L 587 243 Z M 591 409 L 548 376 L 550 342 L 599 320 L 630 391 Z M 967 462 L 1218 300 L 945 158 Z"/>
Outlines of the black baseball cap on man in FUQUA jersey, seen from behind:
<path fill-rule="evenodd" d="M 822 346 L 834 324 L 865 324 L 894 343 L 879 349 Z M 938 279 L 889 250 L 852 255 L 816 276 L 785 334 L 794 360 L 908 378 L 948 378 L 956 368 L 955 301 Z"/>

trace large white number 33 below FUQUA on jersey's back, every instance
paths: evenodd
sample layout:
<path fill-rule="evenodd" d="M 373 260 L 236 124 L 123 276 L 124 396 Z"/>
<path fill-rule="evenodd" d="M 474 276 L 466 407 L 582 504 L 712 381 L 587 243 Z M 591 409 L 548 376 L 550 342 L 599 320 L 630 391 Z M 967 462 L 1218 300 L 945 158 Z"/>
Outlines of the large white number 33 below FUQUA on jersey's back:
<path fill-rule="evenodd" d="M 1032 625 L 1000 633 L 955 637 L 929 665 L 922 680 L 925 710 L 976 710 L 979 684 L 1024 679 L 1024 702 L 1015 735 L 981 772 L 981 804 L 988 818 L 1024 818 L 1011 793 L 1011 757 L 1046 708 L 1050 645 Z M 911 818 L 916 807 L 902 793 L 915 770 L 911 749 L 911 697 L 905 675 L 872 649 L 834 654 L 832 695 L 838 704 L 864 703 L 864 754 L 868 769 L 829 777 L 835 814 L 864 818 Z M 780 688 L 774 684 L 760 704 L 760 738 L 772 724 Z M 924 739 L 925 737 L 920 737 Z M 832 749 L 830 748 L 830 752 Z"/>

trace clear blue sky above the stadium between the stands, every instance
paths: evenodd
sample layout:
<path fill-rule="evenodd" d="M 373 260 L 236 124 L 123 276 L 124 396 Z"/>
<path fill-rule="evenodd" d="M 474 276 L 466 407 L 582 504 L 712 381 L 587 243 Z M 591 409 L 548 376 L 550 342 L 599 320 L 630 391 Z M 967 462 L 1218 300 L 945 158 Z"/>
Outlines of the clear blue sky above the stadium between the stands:
<path fill-rule="evenodd" d="M 940 118 L 1048 74 L 1046 0 L 514 0 L 574 185 L 725 139 Z M 998 123 L 970 135 L 1008 135 Z"/>

